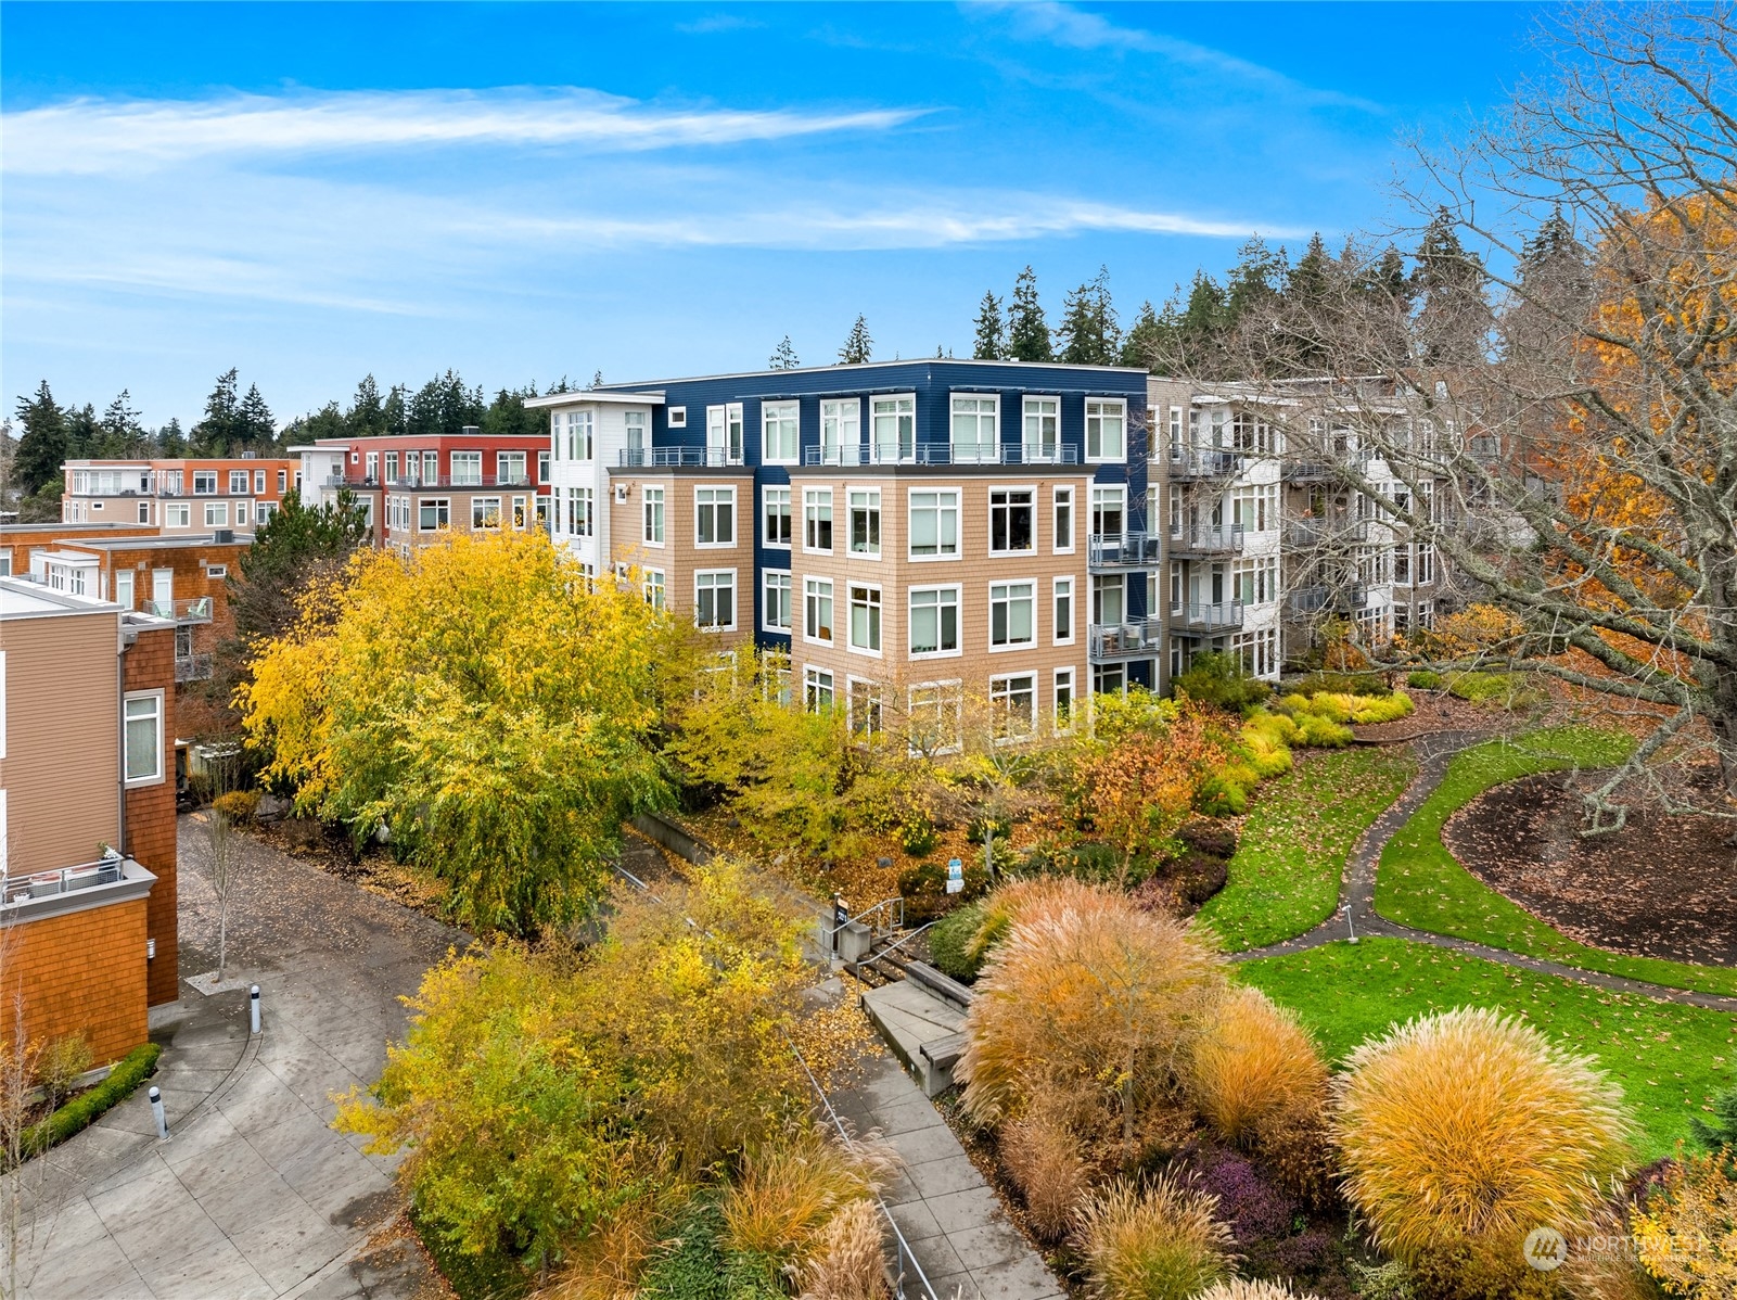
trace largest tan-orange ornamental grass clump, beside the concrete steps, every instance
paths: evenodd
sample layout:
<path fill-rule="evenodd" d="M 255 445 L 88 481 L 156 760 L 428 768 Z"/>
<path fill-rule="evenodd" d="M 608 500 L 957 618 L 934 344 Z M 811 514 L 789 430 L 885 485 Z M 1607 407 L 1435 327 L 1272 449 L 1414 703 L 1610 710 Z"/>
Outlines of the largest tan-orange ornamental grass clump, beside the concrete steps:
<path fill-rule="evenodd" d="M 1049 1090 L 1094 1098 L 1122 1142 L 1166 1100 L 1185 1043 L 1218 1005 L 1225 959 L 1181 921 L 1080 886 L 1018 912 L 966 1017 L 966 1114 L 997 1126 Z"/>

